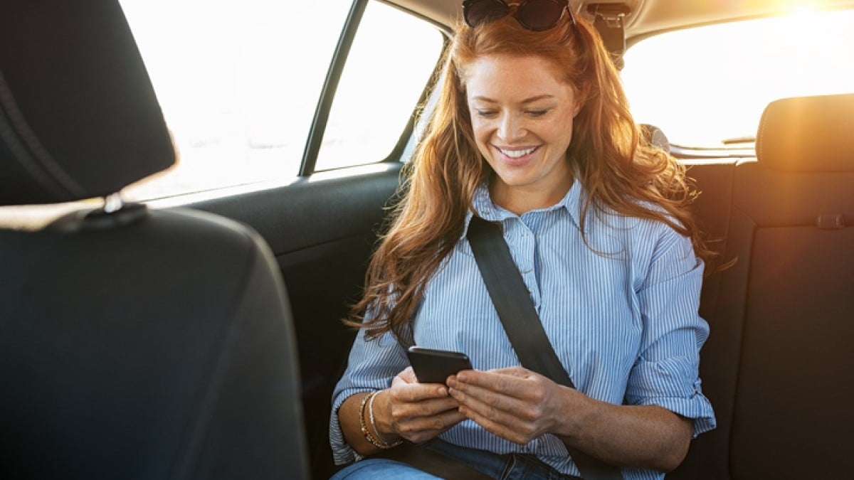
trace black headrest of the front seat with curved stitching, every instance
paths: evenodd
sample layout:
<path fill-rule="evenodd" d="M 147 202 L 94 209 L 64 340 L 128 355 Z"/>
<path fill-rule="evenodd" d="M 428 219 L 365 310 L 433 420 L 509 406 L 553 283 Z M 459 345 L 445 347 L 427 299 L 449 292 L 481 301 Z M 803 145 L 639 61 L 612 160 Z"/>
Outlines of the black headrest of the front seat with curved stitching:
<path fill-rule="evenodd" d="M 0 205 L 108 196 L 174 162 L 118 2 L 0 2 Z"/>

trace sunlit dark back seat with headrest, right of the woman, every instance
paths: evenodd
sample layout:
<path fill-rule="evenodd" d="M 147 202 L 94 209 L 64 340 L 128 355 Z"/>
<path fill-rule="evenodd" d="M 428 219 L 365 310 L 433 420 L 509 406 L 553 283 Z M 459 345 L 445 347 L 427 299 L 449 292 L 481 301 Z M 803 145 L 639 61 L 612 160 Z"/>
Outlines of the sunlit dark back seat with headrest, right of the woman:
<path fill-rule="evenodd" d="M 731 268 L 706 279 L 717 430 L 669 478 L 831 478 L 854 449 L 854 95 L 769 104 L 757 161 L 698 165 L 695 214 Z"/>

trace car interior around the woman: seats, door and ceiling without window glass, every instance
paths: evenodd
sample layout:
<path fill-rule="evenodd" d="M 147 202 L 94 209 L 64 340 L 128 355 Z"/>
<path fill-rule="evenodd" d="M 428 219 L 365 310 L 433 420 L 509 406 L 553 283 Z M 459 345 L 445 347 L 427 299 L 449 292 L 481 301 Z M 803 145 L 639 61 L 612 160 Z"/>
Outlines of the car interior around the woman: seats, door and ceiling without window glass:
<path fill-rule="evenodd" d="M 355 335 L 342 319 L 435 80 L 424 79 L 387 155 L 320 170 L 336 88 L 371 5 L 427 22 L 447 45 L 461 2 L 346 2 L 304 148 L 289 159 L 298 172 L 146 202 L 119 192 L 184 154 L 126 3 L 0 3 L 0 477 L 330 477 L 330 397 Z M 619 65 L 663 32 L 805 3 L 570 8 L 595 22 Z M 678 75 L 678 59 L 664 68 Z M 854 76 L 845 80 L 847 91 L 769 102 L 747 153 L 700 158 L 644 127 L 687 164 L 693 214 L 729 264 L 705 278 L 699 306 L 717 428 L 667 478 L 850 476 Z"/>

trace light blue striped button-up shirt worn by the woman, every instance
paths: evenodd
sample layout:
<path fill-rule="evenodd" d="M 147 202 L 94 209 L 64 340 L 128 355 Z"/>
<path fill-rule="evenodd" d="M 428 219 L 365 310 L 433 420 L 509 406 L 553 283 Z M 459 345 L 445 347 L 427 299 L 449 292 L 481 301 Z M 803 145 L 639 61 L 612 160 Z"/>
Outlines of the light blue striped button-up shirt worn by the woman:
<path fill-rule="evenodd" d="M 711 404 L 700 391 L 699 349 L 709 327 L 697 313 L 703 264 L 691 241 L 658 221 L 591 208 L 588 247 L 579 229 L 583 195 L 576 181 L 553 207 L 518 216 L 496 207 L 481 187 L 473 206 L 484 219 L 504 225 L 513 260 L 577 389 L 601 401 L 658 405 L 695 419 L 694 435 L 715 428 Z M 471 214 L 466 227 L 469 220 Z M 519 365 L 465 234 L 430 278 L 412 328 L 416 344 L 464 352 L 477 370 Z M 330 441 L 338 464 L 358 457 L 343 440 L 338 407 L 355 393 L 389 388 L 409 365 L 390 334 L 366 342 L 363 332 L 333 393 Z M 498 454 L 535 454 L 559 471 L 579 475 L 556 436 L 518 445 L 465 420 L 442 439 Z M 627 468 L 623 477 L 664 474 Z"/>

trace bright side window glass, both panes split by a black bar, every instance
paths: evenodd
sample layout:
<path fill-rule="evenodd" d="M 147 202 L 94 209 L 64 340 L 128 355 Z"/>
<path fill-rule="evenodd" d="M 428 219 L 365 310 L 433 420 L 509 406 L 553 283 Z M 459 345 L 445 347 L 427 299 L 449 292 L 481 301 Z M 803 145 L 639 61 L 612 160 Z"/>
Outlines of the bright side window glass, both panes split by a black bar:
<path fill-rule="evenodd" d="M 179 157 L 167 173 L 128 187 L 126 198 L 150 200 L 299 173 L 351 0 L 120 3 Z M 427 33 L 432 55 L 424 55 L 421 38 Z M 389 48 L 377 47 L 385 44 Z M 441 50 L 442 35 L 428 22 L 369 3 L 318 168 L 388 156 Z M 373 102 L 364 102 L 366 97 Z"/>

